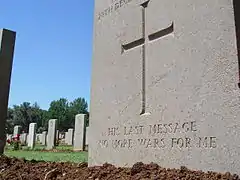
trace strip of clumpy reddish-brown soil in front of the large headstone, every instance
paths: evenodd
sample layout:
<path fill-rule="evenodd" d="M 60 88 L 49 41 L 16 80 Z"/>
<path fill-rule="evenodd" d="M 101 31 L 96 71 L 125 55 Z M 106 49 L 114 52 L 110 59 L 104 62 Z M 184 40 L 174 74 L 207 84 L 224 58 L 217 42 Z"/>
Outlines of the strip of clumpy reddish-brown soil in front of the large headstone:
<path fill-rule="evenodd" d="M 165 169 L 157 164 L 136 163 L 132 168 L 116 168 L 110 164 L 87 167 L 87 163 L 54 163 L 26 161 L 24 159 L 0 157 L 0 180 L 240 180 L 230 173 L 204 173 L 181 169 Z"/>

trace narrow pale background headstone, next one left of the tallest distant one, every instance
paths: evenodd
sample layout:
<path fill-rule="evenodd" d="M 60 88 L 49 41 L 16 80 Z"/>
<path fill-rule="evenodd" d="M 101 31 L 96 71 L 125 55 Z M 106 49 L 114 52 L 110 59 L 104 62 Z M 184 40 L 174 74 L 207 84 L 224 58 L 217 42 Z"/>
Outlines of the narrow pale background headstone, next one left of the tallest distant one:
<path fill-rule="evenodd" d="M 56 128 L 57 119 L 51 119 L 48 122 L 47 149 L 53 149 L 56 146 Z"/>

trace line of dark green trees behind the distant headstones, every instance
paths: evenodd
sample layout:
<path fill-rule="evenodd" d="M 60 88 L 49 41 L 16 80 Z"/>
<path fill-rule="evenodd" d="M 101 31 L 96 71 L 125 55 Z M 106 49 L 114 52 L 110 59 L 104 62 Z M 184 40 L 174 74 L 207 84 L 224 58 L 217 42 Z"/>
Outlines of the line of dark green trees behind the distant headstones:
<path fill-rule="evenodd" d="M 6 132 L 13 133 L 15 125 L 20 125 L 22 131 L 28 132 L 29 124 L 37 123 L 37 132 L 41 133 L 47 130 L 49 119 L 58 119 L 58 130 L 67 131 L 69 128 L 74 128 L 77 114 L 87 114 L 89 117 L 88 104 L 84 98 L 80 97 L 72 102 L 60 98 L 52 101 L 48 110 L 41 109 L 37 102 L 33 104 L 23 102 L 8 108 Z"/>

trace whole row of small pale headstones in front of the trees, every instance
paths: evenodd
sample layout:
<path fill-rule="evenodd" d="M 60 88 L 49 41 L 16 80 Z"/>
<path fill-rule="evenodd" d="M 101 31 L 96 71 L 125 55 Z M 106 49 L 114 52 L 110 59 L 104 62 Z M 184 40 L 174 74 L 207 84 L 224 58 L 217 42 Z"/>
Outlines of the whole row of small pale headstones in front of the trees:
<path fill-rule="evenodd" d="M 47 149 L 53 149 L 59 140 L 59 131 L 57 130 L 57 119 L 51 119 L 48 122 L 48 132 L 43 131 L 41 134 L 36 134 L 36 123 L 29 125 L 29 134 L 22 133 L 20 135 L 21 144 L 27 144 L 28 147 L 34 148 L 37 141 L 40 144 L 47 146 Z M 7 139 L 12 139 L 20 134 L 21 126 L 15 126 L 13 135 L 7 135 Z M 73 145 L 75 151 L 86 150 L 88 146 L 88 127 L 86 127 L 86 115 L 78 114 L 75 117 L 75 130 L 68 129 L 65 133 L 65 144 Z"/>

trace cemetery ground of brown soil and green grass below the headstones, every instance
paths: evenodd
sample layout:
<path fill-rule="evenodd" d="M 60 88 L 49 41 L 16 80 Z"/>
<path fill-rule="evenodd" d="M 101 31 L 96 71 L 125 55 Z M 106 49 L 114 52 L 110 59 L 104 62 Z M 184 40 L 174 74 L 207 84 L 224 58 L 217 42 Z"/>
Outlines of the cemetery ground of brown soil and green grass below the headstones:
<path fill-rule="evenodd" d="M 87 152 L 73 152 L 71 146 L 60 145 L 47 151 L 45 146 L 36 145 L 33 150 L 23 146 L 13 150 L 8 146 L 5 156 L 0 157 L 0 180 L 45 180 L 45 179 L 154 179 L 154 180 L 239 180 L 230 173 L 202 172 L 180 169 L 166 169 L 157 164 L 134 164 L 131 168 L 118 168 L 110 164 L 88 167 Z"/>

